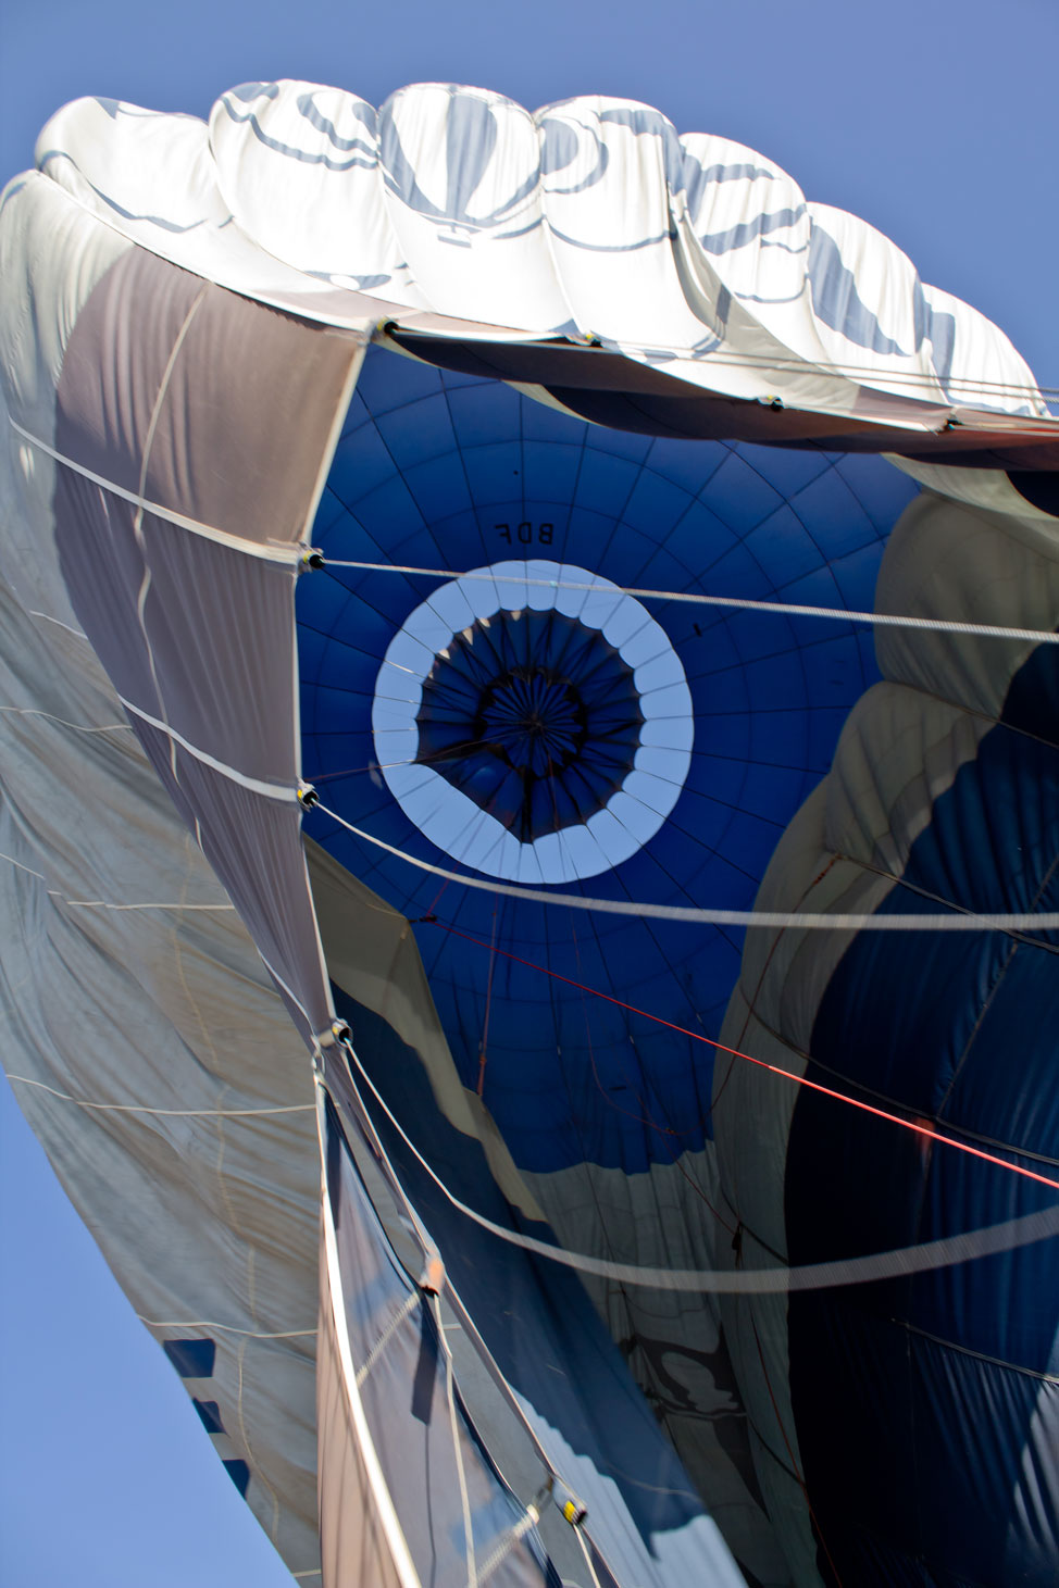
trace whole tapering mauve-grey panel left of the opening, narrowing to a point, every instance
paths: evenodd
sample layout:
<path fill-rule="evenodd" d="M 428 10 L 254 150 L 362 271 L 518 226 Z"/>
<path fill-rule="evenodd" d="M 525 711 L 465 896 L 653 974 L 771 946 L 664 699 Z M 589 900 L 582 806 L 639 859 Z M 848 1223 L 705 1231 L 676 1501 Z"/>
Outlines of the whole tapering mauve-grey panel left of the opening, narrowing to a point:
<path fill-rule="evenodd" d="M 70 337 L 57 451 L 133 494 L 143 480 L 148 500 L 225 535 L 289 545 L 311 513 L 359 357 L 349 335 L 137 251 L 103 275 Z M 64 576 L 117 692 L 192 751 L 284 796 L 241 786 L 133 716 L 302 1034 L 325 1031 L 330 997 L 292 799 L 294 570 L 144 515 L 71 468 L 59 475 Z"/>

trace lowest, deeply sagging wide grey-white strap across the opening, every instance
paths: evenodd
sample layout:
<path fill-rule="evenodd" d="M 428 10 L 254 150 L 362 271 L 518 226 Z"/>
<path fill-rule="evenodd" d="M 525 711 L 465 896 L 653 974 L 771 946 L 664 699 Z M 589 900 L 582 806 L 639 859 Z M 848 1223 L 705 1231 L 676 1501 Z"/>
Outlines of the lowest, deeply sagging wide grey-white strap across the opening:
<path fill-rule="evenodd" d="M 476 1208 L 462 1202 L 452 1191 L 449 1191 L 433 1166 L 427 1162 L 419 1148 L 410 1139 L 378 1086 L 365 1070 L 352 1045 L 345 1043 L 345 1050 L 356 1064 L 383 1113 L 403 1140 L 405 1147 L 408 1147 L 422 1169 L 426 1169 L 430 1180 L 433 1180 L 438 1191 L 457 1212 L 464 1213 L 481 1229 L 489 1231 L 489 1234 L 495 1235 L 499 1240 L 508 1242 L 508 1245 L 521 1247 L 524 1251 L 532 1251 L 535 1256 L 548 1258 L 551 1262 L 559 1262 L 562 1267 L 575 1269 L 580 1274 L 591 1274 L 595 1278 L 613 1280 L 618 1285 L 638 1285 L 660 1291 L 724 1296 L 765 1296 L 791 1291 L 834 1289 L 845 1285 L 868 1285 L 907 1274 L 924 1274 L 930 1269 L 951 1267 L 954 1262 L 969 1262 L 976 1258 L 994 1256 L 1000 1251 L 1010 1251 L 1013 1247 L 1030 1245 L 1037 1240 L 1048 1240 L 1053 1235 L 1059 1235 L 1059 1207 L 1049 1207 L 1042 1208 L 1037 1213 L 1026 1213 L 1021 1218 L 1007 1220 L 1002 1224 L 991 1224 L 984 1229 L 969 1231 L 961 1235 L 946 1235 L 940 1240 L 922 1242 L 916 1247 L 900 1247 L 892 1251 L 875 1251 L 862 1258 L 840 1258 L 834 1262 L 811 1262 L 797 1269 L 714 1269 L 703 1272 L 700 1269 L 654 1269 L 633 1262 L 611 1262 L 607 1258 L 591 1258 L 586 1253 L 567 1251 L 562 1247 L 549 1245 L 546 1240 L 537 1240 L 533 1235 L 524 1235 L 519 1231 L 497 1224 L 494 1220 L 486 1218 L 484 1213 L 478 1213 Z M 799 1077 L 791 1077 L 791 1080 L 797 1078 Z M 942 1137 L 942 1140 L 949 1139 Z M 949 1145 L 957 1148 L 964 1147 L 964 1143 L 951 1140 Z M 1018 1169 L 1019 1166 L 1005 1164 L 1003 1167 Z M 1043 1175 L 1034 1174 L 1029 1174 L 1029 1178 L 1040 1180 L 1043 1185 L 1053 1186 L 1059 1191 L 1059 1180 L 1046 1180 Z"/>

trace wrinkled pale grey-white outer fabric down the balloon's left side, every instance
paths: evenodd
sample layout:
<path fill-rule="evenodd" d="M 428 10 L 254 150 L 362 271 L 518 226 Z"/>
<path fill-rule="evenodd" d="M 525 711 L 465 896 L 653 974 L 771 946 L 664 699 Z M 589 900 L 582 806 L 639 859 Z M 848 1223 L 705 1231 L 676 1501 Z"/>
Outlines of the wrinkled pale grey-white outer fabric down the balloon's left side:
<path fill-rule="evenodd" d="M 186 1388 L 216 1402 L 218 1453 L 252 1466 L 248 1504 L 314 1582 L 308 1056 L 78 630 L 56 465 L 10 424 L 54 440 L 71 326 L 129 243 L 43 178 L 8 189 L 3 221 L 5 1069 L 152 1336 L 214 1343 L 211 1375 Z"/>

